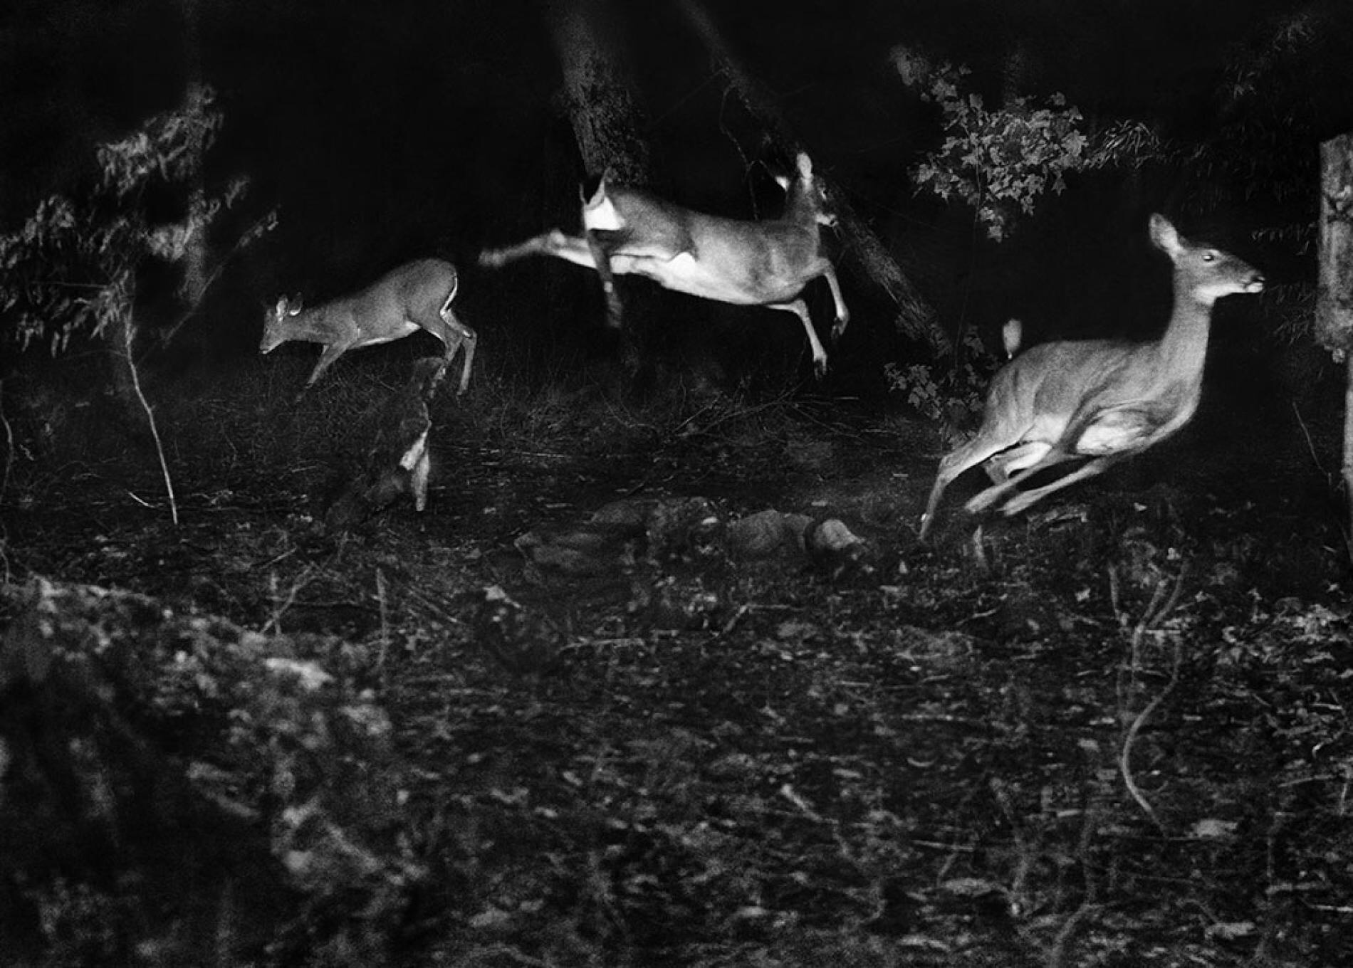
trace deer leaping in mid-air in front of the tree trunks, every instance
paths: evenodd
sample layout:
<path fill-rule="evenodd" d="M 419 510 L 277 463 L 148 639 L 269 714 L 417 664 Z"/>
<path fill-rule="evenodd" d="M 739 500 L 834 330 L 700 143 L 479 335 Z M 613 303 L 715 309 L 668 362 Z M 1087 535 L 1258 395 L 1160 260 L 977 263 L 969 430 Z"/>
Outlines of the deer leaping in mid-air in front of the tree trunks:
<path fill-rule="evenodd" d="M 487 249 L 479 261 L 502 266 L 526 256 L 553 256 L 595 269 L 607 303 L 614 307 L 612 273 L 653 280 L 664 289 L 735 306 L 764 306 L 798 316 L 808 334 L 817 376 L 827 372 L 823 349 L 804 287 L 821 276 L 832 289 L 836 323 L 832 339 L 846 331 L 850 312 L 831 260 L 823 251 L 820 226 L 835 224 L 813 162 L 800 153 L 794 178 L 778 178 L 787 192 L 785 214 L 767 222 L 743 222 L 682 208 L 637 188 L 620 188 L 602 178 L 583 201 L 586 238 L 560 230 L 536 235 L 506 249 Z M 614 312 L 612 314 L 614 319 Z"/>

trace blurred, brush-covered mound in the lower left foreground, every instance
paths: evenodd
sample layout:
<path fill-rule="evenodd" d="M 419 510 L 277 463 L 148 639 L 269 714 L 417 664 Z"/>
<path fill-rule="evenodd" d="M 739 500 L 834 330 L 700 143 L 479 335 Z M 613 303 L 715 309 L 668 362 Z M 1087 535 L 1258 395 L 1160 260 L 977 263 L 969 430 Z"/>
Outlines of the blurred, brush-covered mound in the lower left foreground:
<path fill-rule="evenodd" d="M 226 896 L 230 887 L 218 894 L 239 869 L 267 879 L 250 891 L 284 884 L 296 900 L 290 913 L 253 910 L 281 937 L 287 914 L 306 925 L 334 923 L 330 942 L 359 946 L 364 921 L 398 919 L 423 872 L 407 844 L 392 837 L 403 822 L 406 783 L 391 748 L 391 721 L 364 684 L 372 676 L 369 649 L 322 637 L 269 638 L 223 619 L 179 615 L 130 592 L 45 579 L 0 585 L 0 611 L 18 615 L 23 630 L 0 635 L 0 669 L 8 673 L 0 685 L 11 702 L 42 692 L 43 704 L 60 712 L 32 733 L 8 723 L 0 750 L 28 750 L 32 734 L 69 730 L 69 763 L 38 764 L 22 752 L 14 757 L 22 765 L 0 777 L 7 795 L 42 791 L 34 808 L 43 818 L 34 830 L 42 834 L 19 834 L 28 842 L 20 853 L 14 842 L 0 848 L 0 869 L 8 875 L 19 857 L 32 864 L 24 872 L 31 876 L 0 876 L 0 888 L 35 906 L 35 927 L 58 956 L 43 964 L 120 964 L 133 946 L 172 952 L 154 964 L 204 964 L 176 919 L 188 903 L 223 918 L 241 911 Z M 149 737 L 166 735 L 175 737 L 181 763 L 145 756 Z M 129 746 L 142 750 L 139 760 L 124 757 Z M 158 771 L 157 796 L 138 799 L 152 783 L 149 769 Z M 73 781 L 55 792 L 41 783 L 51 773 L 89 785 Z M 0 798 L 4 807 L 12 826 L 15 804 Z M 198 849 L 208 838 L 203 830 L 231 823 L 235 837 L 222 853 Z M 156 841 L 165 830 L 196 845 L 161 863 Z M 106 852 L 74 867 L 69 879 L 47 876 L 32 860 L 62 837 L 81 836 L 107 845 Z M 112 873 L 89 873 L 100 869 Z M 187 883 L 200 894 L 185 899 Z M 204 904 L 211 896 L 222 899 Z M 14 910 L 4 900 L 0 917 Z M 311 936 L 295 944 L 308 949 L 314 942 Z"/>

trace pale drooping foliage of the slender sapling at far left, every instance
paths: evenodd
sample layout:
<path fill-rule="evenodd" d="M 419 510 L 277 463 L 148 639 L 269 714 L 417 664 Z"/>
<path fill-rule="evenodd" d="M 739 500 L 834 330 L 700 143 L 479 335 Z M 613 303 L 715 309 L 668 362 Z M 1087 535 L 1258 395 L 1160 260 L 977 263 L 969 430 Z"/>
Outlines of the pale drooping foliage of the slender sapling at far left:
<path fill-rule="evenodd" d="M 74 337 L 100 337 L 130 319 L 137 270 L 147 257 L 181 262 L 204 246 L 221 212 L 245 192 L 231 180 L 219 195 L 200 185 L 203 160 L 223 123 L 210 88 L 189 89 L 183 107 L 97 147 L 99 180 L 78 197 L 53 195 L 15 233 L 0 237 L 0 339 L 51 354 Z M 149 196 L 184 199 L 181 218 L 156 222 Z M 265 220 L 241 245 L 272 227 Z M 199 292 L 188 292 L 196 300 Z"/>

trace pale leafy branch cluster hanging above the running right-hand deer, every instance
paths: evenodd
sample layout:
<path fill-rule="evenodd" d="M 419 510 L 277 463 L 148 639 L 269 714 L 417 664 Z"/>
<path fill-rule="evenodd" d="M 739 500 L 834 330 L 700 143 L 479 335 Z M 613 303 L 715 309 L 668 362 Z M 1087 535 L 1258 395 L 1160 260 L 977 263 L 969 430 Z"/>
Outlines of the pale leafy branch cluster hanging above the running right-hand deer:
<path fill-rule="evenodd" d="M 940 199 L 971 205 L 993 239 L 1004 238 L 1019 215 L 1031 215 L 1046 192 L 1065 191 L 1069 173 L 1139 157 L 1154 139 L 1145 126 L 1128 123 L 1092 141 L 1081 130 L 1080 110 L 1059 93 L 1045 105 L 1015 97 L 988 108 L 981 95 L 963 89 L 965 66 L 931 66 L 905 53 L 897 54 L 897 66 L 939 107 L 944 124 L 944 142 L 912 180 Z"/>

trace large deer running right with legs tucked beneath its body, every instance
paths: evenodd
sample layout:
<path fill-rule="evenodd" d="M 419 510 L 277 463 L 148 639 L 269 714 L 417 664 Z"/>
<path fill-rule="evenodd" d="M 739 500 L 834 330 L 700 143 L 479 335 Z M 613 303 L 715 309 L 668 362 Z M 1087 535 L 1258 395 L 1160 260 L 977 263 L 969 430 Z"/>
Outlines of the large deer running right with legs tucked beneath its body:
<path fill-rule="evenodd" d="M 921 539 L 944 488 L 971 466 L 990 461 L 1004 480 L 967 502 L 967 510 L 976 514 L 1004 500 L 1001 512 L 1012 515 L 1160 443 L 1193 416 L 1212 306 L 1222 296 L 1261 292 L 1264 276 L 1235 256 L 1183 238 L 1164 215 L 1151 215 L 1150 231 L 1174 264 L 1174 308 L 1165 335 L 1147 343 L 1042 343 L 1011 360 L 986 391 L 977 435 L 939 464 Z M 1034 475 L 1070 460 L 1085 462 L 1009 496 Z"/>

